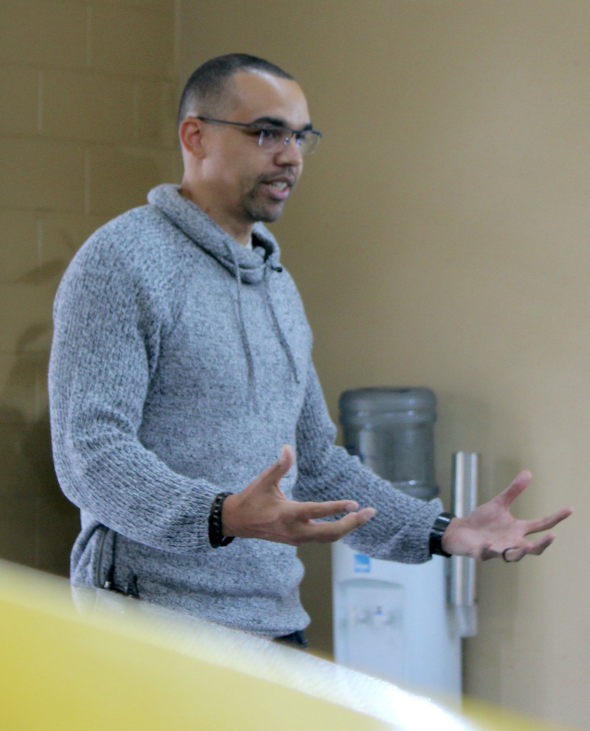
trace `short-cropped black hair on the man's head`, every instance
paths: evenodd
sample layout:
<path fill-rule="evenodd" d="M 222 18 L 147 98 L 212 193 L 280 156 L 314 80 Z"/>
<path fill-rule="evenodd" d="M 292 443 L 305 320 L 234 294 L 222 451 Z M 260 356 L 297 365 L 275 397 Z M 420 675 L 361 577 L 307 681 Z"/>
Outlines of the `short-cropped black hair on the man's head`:
<path fill-rule="evenodd" d="M 211 58 L 192 72 L 184 86 L 178 106 L 178 126 L 181 126 L 189 112 L 198 110 L 203 113 L 205 105 L 208 107 L 206 113 L 213 113 L 227 92 L 227 81 L 240 71 L 263 71 L 281 79 L 293 80 L 290 74 L 271 64 L 271 61 L 247 53 L 227 53 Z"/>

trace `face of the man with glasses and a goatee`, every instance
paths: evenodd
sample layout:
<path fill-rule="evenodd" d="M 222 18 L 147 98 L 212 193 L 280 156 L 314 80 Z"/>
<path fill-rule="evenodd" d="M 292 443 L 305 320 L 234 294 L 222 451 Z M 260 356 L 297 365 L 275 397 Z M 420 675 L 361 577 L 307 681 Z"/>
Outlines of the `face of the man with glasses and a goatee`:
<path fill-rule="evenodd" d="M 290 79 L 257 72 L 232 78 L 232 96 L 219 118 L 290 129 L 310 125 L 303 91 Z M 274 152 L 259 145 L 260 134 L 222 124 L 203 124 L 203 179 L 221 197 L 228 213 L 241 221 L 276 221 L 303 170 L 300 151 L 290 143 Z"/>

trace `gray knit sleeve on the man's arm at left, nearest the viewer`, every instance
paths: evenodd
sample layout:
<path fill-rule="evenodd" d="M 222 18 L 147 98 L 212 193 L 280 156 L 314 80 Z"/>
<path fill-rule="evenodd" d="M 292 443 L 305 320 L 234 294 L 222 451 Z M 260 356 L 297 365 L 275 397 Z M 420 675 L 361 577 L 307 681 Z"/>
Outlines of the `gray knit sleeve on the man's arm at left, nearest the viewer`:
<path fill-rule="evenodd" d="M 65 495 L 152 548 L 207 548 L 220 488 L 171 470 L 138 430 L 161 329 L 124 263 L 80 251 L 58 289 L 49 368 L 53 457 Z"/>

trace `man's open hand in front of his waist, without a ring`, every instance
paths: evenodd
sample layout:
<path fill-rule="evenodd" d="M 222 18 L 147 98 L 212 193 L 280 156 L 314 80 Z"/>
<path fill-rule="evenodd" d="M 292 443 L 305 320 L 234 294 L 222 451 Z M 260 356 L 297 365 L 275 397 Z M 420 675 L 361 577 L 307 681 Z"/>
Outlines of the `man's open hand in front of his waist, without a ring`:
<path fill-rule="evenodd" d="M 352 500 L 322 503 L 288 500 L 279 488 L 279 482 L 291 469 L 294 459 L 291 447 L 285 444 L 273 466 L 250 482 L 243 492 L 227 496 L 222 507 L 224 536 L 260 538 L 295 546 L 330 543 L 373 518 L 374 508 L 358 510 L 358 504 Z M 347 515 L 340 520 L 315 522 L 318 518 L 342 512 Z"/>

